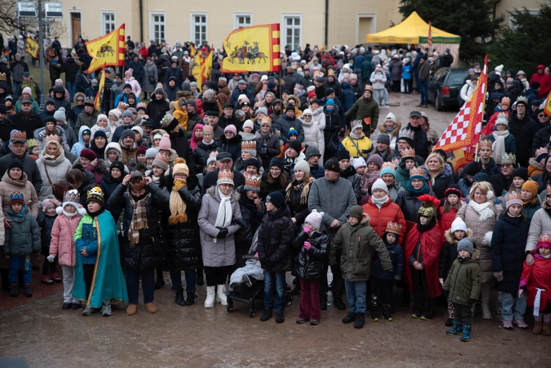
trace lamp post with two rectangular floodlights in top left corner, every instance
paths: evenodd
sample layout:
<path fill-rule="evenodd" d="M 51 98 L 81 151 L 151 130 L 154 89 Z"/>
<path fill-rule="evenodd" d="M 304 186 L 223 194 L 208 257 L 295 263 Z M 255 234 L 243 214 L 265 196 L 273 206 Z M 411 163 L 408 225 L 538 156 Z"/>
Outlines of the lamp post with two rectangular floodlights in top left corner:
<path fill-rule="evenodd" d="M 63 4 L 60 2 L 46 1 L 44 2 L 44 14 L 46 18 L 63 18 Z M 42 18 L 42 0 L 38 0 L 38 12 L 36 11 L 35 3 L 33 1 L 18 1 L 17 2 L 17 15 L 19 17 L 19 23 L 21 24 L 36 24 L 38 25 L 38 37 L 39 37 L 39 57 L 40 57 L 40 108 L 44 109 L 44 57 L 42 55 L 42 26 L 45 24 L 61 24 L 61 21 L 49 21 Z M 23 18 L 23 19 L 21 19 Z M 31 18 L 33 20 L 25 20 L 24 18 Z M 34 20 L 38 18 L 38 21 Z"/>

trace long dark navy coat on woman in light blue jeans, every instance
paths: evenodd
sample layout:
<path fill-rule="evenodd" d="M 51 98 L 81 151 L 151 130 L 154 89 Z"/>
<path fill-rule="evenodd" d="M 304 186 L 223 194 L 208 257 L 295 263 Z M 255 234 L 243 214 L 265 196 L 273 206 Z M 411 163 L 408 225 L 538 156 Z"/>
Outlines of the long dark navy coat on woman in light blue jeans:
<path fill-rule="evenodd" d="M 491 236 L 491 263 L 494 272 L 503 271 L 498 290 L 514 296 L 518 293 L 522 263 L 526 259 L 525 247 L 530 221 L 501 214 Z"/>

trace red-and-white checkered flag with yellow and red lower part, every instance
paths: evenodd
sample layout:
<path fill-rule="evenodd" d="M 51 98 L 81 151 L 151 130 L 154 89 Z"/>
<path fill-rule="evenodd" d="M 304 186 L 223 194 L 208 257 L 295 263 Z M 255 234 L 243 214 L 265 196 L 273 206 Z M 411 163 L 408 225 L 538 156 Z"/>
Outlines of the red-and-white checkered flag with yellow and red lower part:
<path fill-rule="evenodd" d="M 440 148 L 446 151 L 455 171 L 470 161 L 474 161 L 476 145 L 482 131 L 487 86 L 488 55 L 484 58 L 484 69 L 478 77 L 473 94 L 469 96 L 434 147 L 434 149 Z"/>

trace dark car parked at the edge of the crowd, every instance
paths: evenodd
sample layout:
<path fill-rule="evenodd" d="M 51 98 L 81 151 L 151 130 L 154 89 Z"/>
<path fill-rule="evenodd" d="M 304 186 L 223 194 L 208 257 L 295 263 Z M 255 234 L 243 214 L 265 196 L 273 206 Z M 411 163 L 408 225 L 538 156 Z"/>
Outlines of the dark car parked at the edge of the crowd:
<path fill-rule="evenodd" d="M 428 88 L 429 102 L 434 104 L 436 111 L 441 111 L 444 106 L 459 107 L 458 97 L 467 73 L 467 68 L 441 68 L 436 71 Z"/>

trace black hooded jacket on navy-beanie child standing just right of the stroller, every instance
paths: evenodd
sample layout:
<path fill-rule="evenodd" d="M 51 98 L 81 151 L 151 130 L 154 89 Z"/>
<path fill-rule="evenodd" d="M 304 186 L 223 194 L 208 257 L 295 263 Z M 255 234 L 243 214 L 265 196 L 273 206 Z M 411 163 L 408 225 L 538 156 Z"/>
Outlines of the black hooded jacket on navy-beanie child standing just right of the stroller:
<path fill-rule="evenodd" d="M 257 249 L 262 268 L 268 272 L 291 270 L 294 224 L 290 215 L 289 207 L 284 205 L 274 212 L 268 212 L 262 218 Z"/>

